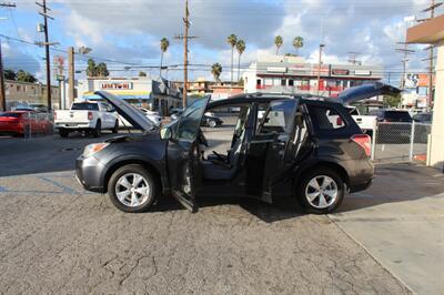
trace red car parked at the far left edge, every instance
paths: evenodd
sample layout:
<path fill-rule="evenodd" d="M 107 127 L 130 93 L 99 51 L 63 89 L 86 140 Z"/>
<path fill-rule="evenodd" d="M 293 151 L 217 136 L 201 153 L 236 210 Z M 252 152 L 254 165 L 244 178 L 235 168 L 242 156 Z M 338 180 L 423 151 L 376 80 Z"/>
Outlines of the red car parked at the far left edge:
<path fill-rule="evenodd" d="M 10 111 L 0 113 L 0 134 L 23 135 L 29 129 L 31 133 L 46 133 L 51 122 L 47 114 L 32 111 Z"/>

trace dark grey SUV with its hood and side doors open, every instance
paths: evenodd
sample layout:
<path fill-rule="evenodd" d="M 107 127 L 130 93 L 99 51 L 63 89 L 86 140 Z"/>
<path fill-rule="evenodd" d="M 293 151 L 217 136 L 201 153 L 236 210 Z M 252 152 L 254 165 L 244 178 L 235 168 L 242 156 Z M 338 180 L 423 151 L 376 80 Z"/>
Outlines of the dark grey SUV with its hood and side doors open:
<path fill-rule="evenodd" d="M 329 213 L 340 206 L 346 191 L 365 190 L 373 179 L 370 136 L 334 100 L 273 94 L 211 103 L 201 99 L 158 131 L 130 104 L 103 91 L 95 94 L 144 131 L 90 144 L 77 160 L 83 187 L 108 192 L 124 212 L 147 211 L 162 194 L 172 194 L 192 212 L 200 199 L 214 195 L 268 203 L 287 195 L 309 212 Z M 268 111 L 258 120 L 263 104 Z M 209 142 L 200 128 L 205 110 L 232 105 L 240 113 L 231 150 L 205 155 L 201 145 Z M 341 124 L 333 125 L 327 115 L 341 118 Z"/>

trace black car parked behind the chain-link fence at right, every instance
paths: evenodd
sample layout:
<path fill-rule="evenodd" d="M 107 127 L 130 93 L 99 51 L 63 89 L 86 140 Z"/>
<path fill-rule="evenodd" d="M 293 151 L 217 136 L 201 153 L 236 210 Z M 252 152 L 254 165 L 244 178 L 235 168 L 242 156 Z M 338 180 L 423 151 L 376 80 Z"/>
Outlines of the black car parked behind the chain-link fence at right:
<path fill-rule="evenodd" d="M 412 135 L 413 119 L 403 110 L 374 110 L 370 114 L 376 115 L 377 143 L 408 144 Z"/>

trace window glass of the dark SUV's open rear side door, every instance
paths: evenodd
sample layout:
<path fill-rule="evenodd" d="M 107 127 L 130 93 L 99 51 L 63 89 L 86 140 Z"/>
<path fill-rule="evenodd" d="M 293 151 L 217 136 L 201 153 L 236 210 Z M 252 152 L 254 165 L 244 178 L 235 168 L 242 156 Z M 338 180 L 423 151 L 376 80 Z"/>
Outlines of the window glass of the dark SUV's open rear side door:
<path fill-rule="evenodd" d="M 290 133 L 294 118 L 294 101 L 276 101 L 270 105 L 259 133 Z"/>

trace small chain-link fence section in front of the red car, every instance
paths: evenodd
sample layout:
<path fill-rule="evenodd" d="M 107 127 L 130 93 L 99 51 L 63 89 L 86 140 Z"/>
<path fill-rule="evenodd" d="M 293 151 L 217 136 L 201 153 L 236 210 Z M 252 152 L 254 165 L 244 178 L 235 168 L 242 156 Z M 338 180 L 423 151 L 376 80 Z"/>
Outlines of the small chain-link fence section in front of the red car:
<path fill-rule="evenodd" d="M 52 113 L 27 113 L 23 118 L 23 138 L 32 139 L 54 133 Z"/>

